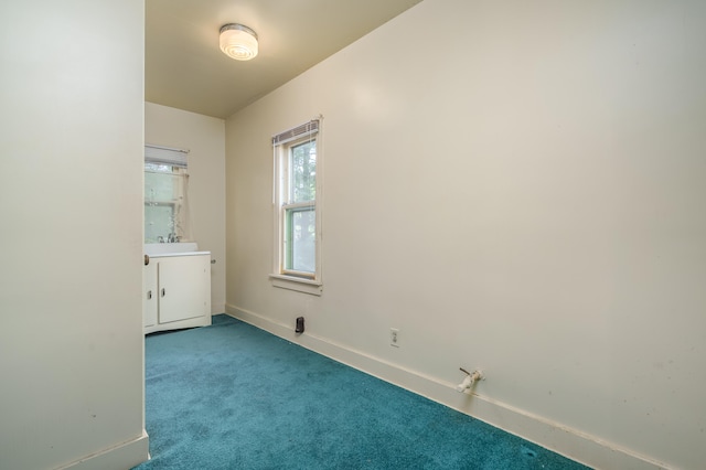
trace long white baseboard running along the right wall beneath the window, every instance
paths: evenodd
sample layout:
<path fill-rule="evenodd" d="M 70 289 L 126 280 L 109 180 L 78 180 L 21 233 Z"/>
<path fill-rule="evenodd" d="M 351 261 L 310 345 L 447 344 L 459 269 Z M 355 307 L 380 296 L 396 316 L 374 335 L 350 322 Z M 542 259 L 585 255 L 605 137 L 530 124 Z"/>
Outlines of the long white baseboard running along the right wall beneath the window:
<path fill-rule="evenodd" d="M 310 333 L 297 335 L 293 325 L 275 322 L 232 305 L 225 306 L 225 312 L 292 343 L 472 416 L 593 469 L 659 470 L 668 468 L 649 457 L 640 456 L 596 436 L 587 435 L 491 397 L 475 393 L 472 395 L 458 393 L 456 384 L 400 367 Z"/>

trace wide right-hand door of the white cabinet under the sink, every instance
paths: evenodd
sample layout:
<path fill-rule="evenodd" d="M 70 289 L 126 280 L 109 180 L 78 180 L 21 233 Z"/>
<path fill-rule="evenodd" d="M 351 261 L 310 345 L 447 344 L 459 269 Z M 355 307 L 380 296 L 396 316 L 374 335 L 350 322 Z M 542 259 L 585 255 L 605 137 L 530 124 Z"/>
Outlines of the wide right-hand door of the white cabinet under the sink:
<path fill-rule="evenodd" d="M 211 257 L 208 255 L 160 258 L 159 322 L 211 314 Z"/>

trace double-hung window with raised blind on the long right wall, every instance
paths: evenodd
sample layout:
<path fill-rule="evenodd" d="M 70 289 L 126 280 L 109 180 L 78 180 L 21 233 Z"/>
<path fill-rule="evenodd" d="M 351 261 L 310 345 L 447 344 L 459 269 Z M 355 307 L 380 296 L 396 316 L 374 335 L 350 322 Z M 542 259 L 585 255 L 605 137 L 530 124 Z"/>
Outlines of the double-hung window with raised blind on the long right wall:
<path fill-rule="evenodd" d="M 312 120 L 272 138 L 276 248 L 274 285 L 321 293 L 321 146 Z"/>

